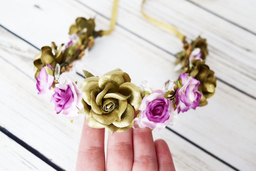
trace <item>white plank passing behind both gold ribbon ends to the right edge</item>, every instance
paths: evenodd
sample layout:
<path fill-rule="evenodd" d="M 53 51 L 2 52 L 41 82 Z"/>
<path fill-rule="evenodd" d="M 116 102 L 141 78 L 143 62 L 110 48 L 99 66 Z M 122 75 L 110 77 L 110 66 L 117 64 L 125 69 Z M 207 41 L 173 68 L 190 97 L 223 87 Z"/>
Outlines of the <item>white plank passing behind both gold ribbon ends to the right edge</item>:
<path fill-rule="evenodd" d="M 108 18 L 111 16 L 109 9 L 112 0 L 78 1 L 100 15 Z M 140 3 L 141 1 L 136 0 L 120 1 L 118 25 L 165 51 L 173 54 L 180 51 L 182 47 L 180 40 L 143 18 L 140 13 Z M 256 91 L 252 91 L 255 89 L 253 85 L 256 84 L 255 35 L 186 0 L 147 1 L 144 10 L 150 16 L 174 25 L 189 39 L 195 39 L 198 35 L 207 38 L 210 51 L 207 64 L 214 70 L 216 76 L 256 97 Z"/>

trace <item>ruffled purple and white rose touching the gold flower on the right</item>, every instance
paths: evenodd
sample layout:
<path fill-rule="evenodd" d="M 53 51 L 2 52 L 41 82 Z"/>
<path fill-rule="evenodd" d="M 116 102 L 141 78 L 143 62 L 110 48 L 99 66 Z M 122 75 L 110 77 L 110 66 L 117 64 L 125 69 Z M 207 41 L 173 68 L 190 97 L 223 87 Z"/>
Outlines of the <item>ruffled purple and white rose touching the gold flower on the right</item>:
<path fill-rule="evenodd" d="M 200 81 L 193 76 L 188 77 L 188 73 L 183 73 L 179 76 L 182 87 L 176 93 L 176 105 L 178 113 L 186 112 L 189 108 L 195 109 L 199 106 L 199 101 L 202 94 L 197 91 Z"/>

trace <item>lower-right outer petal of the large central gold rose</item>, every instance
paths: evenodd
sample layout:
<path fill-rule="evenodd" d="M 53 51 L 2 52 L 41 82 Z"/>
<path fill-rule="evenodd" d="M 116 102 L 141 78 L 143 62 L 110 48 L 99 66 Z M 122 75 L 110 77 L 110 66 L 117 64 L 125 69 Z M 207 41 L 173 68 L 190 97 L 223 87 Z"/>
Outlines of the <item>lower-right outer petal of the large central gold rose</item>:
<path fill-rule="evenodd" d="M 134 118 L 134 109 L 130 104 L 127 104 L 125 112 L 121 116 L 121 121 L 115 121 L 113 124 L 117 127 L 126 127 L 131 124 Z"/>

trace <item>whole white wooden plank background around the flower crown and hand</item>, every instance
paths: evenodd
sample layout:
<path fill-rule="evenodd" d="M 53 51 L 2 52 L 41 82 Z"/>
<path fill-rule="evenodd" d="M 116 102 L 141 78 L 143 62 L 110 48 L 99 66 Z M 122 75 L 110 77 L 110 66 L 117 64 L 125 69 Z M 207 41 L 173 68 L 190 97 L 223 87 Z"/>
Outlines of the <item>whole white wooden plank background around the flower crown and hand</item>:
<path fill-rule="evenodd" d="M 148 80 L 154 89 L 177 78 L 173 54 L 182 43 L 147 22 L 140 3 L 120 0 L 115 30 L 96 39 L 89 56 L 77 64 L 78 72 L 100 76 L 119 67 L 133 83 Z M 144 5 L 148 15 L 171 23 L 189 39 L 207 38 L 207 64 L 218 79 L 207 106 L 181 113 L 170 126 L 179 135 L 153 131 L 154 139 L 168 143 L 176 170 L 256 170 L 255 7 L 255 0 L 148 0 Z M 66 42 L 76 17 L 95 17 L 97 29 L 108 29 L 111 10 L 112 0 L 8 0 L 0 5 L 0 126 L 65 170 L 75 169 L 84 116 L 72 124 L 37 95 L 33 57 L 51 41 Z M 83 80 L 70 75 L 78 84 Z M 0 132 L 0 170 L 54 169 Z"/>

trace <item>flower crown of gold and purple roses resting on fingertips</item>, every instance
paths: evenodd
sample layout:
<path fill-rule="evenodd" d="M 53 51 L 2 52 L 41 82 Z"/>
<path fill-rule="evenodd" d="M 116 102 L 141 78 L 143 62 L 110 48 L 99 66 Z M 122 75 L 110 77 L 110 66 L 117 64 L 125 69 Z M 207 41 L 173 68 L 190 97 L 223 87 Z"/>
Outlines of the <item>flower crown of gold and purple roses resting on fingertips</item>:
<path fill-rule="evenodd" d="M 216 78 L 205 65 L 207 43 L 201 37 L 190 44 L 182 38 L 184 50 L 177 54 L 175 63 L 183 69 L 183 74 L 178 79 L 167 80 L 162 89 L 153 91 L 145 80 L 136 86 L 119 68 L 101 77 L 83 70 L 85 79 L 80 86 L 66 80 L 65 72 L 93 46 L 94 39 L 113 29 L 95 31 L 94 28 L 93 19 L 77 18 L 70 26 L 70 41 L 58 48 L 54 42 L 51 47 L 42 47 L 34 61 L 38 94 L 51 97 L 56 113 L 66 115 L 71 122 L 79 114 L 85 114 L 89 126 L 105 127 L 110 132 L 131 127 L 159 131 L 177 121 L 175 110 L 179 114 L 204 106 L 206 99 L 214 94 Z"/>

